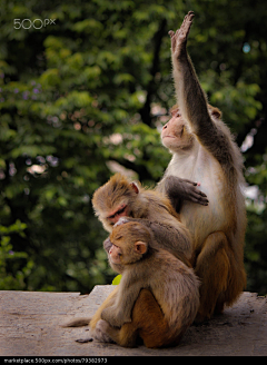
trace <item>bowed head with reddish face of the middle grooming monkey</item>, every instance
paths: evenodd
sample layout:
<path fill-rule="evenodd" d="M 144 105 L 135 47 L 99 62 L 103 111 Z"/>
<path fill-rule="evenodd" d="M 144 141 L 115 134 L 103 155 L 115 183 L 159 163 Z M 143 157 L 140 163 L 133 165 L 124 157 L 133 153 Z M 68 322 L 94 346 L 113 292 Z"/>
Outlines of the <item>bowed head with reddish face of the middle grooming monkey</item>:
<path fill-rule="evenodd" d="M 120 217 L 141 217 L 147 207 L 140 203 L 140 188 L 121 174 L 113 175 L 92 197 L 96 216 L 108 231 L 112 230 Z"/>

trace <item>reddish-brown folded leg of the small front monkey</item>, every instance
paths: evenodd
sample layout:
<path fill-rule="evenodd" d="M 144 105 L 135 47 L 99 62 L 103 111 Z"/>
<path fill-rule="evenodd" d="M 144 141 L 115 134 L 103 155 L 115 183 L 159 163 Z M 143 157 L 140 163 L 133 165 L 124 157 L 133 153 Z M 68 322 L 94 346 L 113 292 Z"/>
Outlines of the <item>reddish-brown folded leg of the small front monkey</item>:
<path fill-rule="evenodd" d="M 137 338 L 144 341 L 146 347 L 157 348 L 178 345 L 184 332 L 174 332 L 169 328 L 165 316 L 148 289 L 142 289 L 134 306 L 131 323 L 125 324 L 120 329 L 107 326 L 106 333 L 118 345 L 135 347 Z"/>

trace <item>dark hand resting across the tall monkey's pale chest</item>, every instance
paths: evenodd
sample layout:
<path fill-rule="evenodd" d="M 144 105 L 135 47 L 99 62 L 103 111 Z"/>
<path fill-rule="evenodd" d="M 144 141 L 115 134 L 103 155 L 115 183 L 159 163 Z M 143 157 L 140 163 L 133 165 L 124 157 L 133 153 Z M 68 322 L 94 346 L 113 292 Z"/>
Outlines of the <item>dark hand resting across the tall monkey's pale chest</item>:
<path fill-rule="evenodd" d="M 199 182 L 181 179 L 177 176 L 168 176 L 166 178 L 166 193 L 171 203 L 175 203 L 176 199 L 184 199 L 207 206 L 209 203 L 207 195 L 196 188 L 199 185 Z"/>

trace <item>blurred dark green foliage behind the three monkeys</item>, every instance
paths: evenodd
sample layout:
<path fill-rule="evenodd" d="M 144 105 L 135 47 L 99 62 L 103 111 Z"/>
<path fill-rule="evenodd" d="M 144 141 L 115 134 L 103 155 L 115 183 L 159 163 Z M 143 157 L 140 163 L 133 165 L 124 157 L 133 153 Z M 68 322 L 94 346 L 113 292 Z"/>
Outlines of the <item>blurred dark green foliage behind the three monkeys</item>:
<path fill-rule="evenodd" d="M 168 30 L 245 160 L 247 290 L 267 293 L 267 7 L 263 0 L 1 0 L 0 289 L 110 284 L 91 196 L 115 171 L 154 187 L 170 159 Z"/>

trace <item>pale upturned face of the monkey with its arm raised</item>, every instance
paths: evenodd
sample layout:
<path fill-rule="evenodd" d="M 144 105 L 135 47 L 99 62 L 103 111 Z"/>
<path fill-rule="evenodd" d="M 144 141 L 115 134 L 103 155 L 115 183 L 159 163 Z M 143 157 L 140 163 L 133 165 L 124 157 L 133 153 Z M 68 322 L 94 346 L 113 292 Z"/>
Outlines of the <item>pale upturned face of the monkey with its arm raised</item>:
<path fill-rule="evenodd" d="M 170 151 L 191 147 L 194 140 L 178 108 L 171 111 L 171 119 L 164 126 L 161 141 Z"/>

